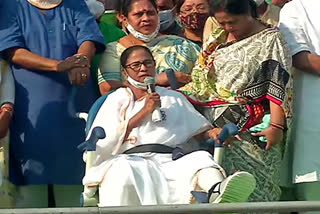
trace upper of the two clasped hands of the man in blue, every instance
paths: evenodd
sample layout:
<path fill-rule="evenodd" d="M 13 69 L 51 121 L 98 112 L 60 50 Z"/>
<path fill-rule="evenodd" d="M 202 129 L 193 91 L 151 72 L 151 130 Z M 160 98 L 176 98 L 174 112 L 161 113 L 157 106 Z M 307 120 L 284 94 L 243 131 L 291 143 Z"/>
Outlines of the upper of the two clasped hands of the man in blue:
<path fill-rule="evenodd" d="M 69 71 L 73 68 L 90 67 L 90 62 L 86 56 L 75 54 L 61 61 L 57 66 L 58 72 Z"/>

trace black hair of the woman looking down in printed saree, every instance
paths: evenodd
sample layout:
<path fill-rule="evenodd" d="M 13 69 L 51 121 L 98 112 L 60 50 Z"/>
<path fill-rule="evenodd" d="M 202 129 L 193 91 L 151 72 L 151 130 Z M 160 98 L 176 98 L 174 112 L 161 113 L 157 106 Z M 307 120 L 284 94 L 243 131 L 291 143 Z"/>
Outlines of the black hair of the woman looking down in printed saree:
<path fill-rule="evenodd" d="M 258 18 L 257 4 L 254 0 L 211 0 L 213 14 L 225 11 L 233 15 L 250 14 Z"/>

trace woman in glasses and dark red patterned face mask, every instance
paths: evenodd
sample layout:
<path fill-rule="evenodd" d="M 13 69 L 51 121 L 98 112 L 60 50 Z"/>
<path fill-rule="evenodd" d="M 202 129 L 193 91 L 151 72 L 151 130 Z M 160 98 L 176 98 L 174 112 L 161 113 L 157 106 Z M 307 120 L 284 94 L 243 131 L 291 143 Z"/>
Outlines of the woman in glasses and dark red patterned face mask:
<path fill-rule="evenodd" d="M 182 37 L 189 39 L 200 47 L 203 41 L 203 30 L 209 17 L 208 0 L 178 0 L 177 13 L 184 32 Z"/>

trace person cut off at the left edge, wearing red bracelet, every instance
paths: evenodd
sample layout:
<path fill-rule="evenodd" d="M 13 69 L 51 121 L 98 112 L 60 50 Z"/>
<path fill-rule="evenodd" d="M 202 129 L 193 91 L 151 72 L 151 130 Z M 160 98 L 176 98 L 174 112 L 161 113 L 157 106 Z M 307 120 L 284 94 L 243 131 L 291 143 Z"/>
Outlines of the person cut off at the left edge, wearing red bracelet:
<path fill-rule="evenodd" d="M 13 115 L 14 81 L 9 65 L 0 58 L 0 209 L 11 208 L 13 198 L 8 179 L 9 125 Z"/>

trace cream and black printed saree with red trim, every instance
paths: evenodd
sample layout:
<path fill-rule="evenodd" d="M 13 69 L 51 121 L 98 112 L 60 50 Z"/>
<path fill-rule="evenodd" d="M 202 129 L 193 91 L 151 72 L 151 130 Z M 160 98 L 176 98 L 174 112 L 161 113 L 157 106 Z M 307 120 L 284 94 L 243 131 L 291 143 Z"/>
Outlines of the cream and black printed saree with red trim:
<path fill-rule="evenodd" d="M 222 29 L 215 29 L 192 71 L 192 82 L 181 91 L 214 126 L 228 122 L 238 125 L 242 140 L 225 149 L 222 165 L 227 173 L 243 170 L 256 177 L 257 189 L 249 200 L 279 200 L 285 144 L 265 151 L 255 143 L 249 129 L 270 113 L 271 101 L 284 109 L 286 136 L 290 136 L 291 55 L 277 28 L 267 28 L 235 43 L 224 43 L 226 36 Z"/>

